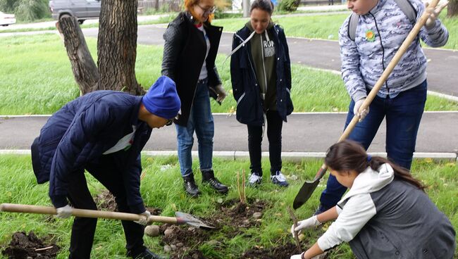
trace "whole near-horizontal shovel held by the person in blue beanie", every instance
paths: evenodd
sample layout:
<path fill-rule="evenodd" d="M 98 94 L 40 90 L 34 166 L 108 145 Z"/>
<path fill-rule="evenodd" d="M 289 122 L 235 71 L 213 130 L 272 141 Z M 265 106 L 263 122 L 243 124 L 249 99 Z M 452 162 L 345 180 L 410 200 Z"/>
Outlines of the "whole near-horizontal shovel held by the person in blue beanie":
<path fill-rule="evenodd" d="M 35 205 L 23 205 L 23 204 L 11 204 L 11 203 L 1 203 L 0 212 L 9 212 L 9 213 L 35 213 L 35 214 L 47 214 L 47 215 L 56 215 L 56 208 L 48 206 L 35 206 Z M 141 220 L 144 218 L 142 215 L 137 215 L 133 213 L 116 213 L 112 211 L 101 211 L 101 210 L 82 210 L 79 208 L 73 208 L 72 215 L 75 217 L 96 217 L 96 218 L 105 218 L 113 220 Z M 163 217 L 163 216 L 154 216 L 151 215 L 148 218 L 148 222 L 162 222 L 170 223 L 175 225 L 187 224 L 192 227 L 199 227 L 202 229 L 213 229 L 210 225 L 207 225 L 202 220 L 199 220 L 197 217 L 194 217 L 187 213 L 181 213 L 179 211 L 175 212 L 176 217 Z"/>

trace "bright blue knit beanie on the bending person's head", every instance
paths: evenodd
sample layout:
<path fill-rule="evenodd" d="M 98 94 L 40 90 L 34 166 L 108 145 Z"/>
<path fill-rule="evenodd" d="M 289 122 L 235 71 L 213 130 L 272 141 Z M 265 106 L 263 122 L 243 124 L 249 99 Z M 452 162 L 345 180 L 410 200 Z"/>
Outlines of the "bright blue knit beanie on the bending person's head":
<path fill-rule="evenodd" d="M 149 87 L 142 103 L 150 113 L 165 119 L 175 118 L 181 107 L 175 82 L 165 75 Z"/>

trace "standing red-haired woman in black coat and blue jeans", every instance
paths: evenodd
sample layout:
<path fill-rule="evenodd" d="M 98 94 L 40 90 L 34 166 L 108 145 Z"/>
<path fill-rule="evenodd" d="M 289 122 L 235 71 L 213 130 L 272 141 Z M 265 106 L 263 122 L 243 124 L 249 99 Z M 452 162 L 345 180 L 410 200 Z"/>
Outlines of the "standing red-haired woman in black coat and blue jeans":
<path fill-rule="evenodd" d="M 213 116 L 209 96 L 221 103 L 225 91 L 215 66 L 222 27 L 210 24 L 215 11 L 213 0 L 185 0 L 185 11 L 178 14 L 163 34 L 165 39 L 162 75 L 175 81 L 181 110 L 175 119 L 178 160 L 185 191 L 199 195 L 192 172 L 194 132 L 199 141 L 202 182 L 220 193 L 228 192 L 213 174 Z"/>

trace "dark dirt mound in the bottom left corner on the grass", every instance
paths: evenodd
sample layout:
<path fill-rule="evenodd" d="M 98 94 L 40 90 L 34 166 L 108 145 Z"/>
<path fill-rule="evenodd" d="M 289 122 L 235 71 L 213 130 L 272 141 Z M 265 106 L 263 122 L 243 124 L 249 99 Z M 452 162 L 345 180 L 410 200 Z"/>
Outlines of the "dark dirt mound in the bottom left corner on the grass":
<path fill-rule="evenodd" d="M 56 244 L 44 244 L 45 241 L 39 239 L 33 232 L 16 232 L 11 236 L 11 242 L 1 253 L 12 259 L 28 258 L 56 258 L 61 249 Z"/>

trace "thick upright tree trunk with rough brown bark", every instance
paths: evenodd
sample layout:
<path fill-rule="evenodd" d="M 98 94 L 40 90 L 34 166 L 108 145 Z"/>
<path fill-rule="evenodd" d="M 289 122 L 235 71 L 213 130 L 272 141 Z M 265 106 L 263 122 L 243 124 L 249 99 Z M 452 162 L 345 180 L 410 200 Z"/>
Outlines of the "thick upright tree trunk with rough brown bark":
<path fill-rule="evenodd" d="M 144 94 L 135 79 L 137 6 L 137 0 L 101 1 L 97 42 L 99 90 Z"/>

